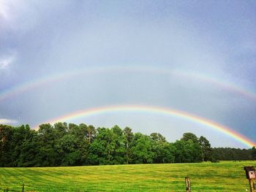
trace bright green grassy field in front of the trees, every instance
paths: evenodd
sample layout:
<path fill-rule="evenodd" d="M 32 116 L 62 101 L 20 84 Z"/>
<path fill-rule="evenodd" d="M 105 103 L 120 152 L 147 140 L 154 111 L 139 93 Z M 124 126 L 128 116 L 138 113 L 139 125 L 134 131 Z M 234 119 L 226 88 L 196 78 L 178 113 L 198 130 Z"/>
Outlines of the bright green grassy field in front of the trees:
<path fill-rule="evenodd" d="M 143 164 L 0 168 L 0 191 L 185 191 L 189 175 L 192 191 L 249 190 L 244 166 L 256 161 L 202 164 Z"/>

